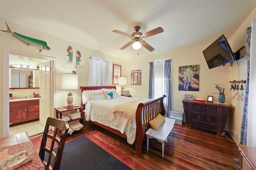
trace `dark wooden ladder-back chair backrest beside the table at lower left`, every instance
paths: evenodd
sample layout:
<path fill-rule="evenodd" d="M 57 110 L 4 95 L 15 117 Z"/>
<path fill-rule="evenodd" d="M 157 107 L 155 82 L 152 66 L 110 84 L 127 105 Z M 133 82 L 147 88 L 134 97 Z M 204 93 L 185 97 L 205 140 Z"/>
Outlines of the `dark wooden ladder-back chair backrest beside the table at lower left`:
<path fill-rule="evenodd" d="M 51 134 L 48 133 L 50 126 L 55 127 L 54 132 L 51 132 Z M 60 162 L 62 158 L 66 137 L 68 135 L 68 129 L 69 125 L 67 121 L 63 119 L 56 119 L 53 117 L 47 118 L 39 150 L 39 156 L 46 169 L 60 169 Z M 50 147 L 50 149 L 48 147 Z M 53 151 L 54 147 L 57 147 L 56 152 Z M 46 155 L 48 155 L 48 157 L 46 156 L 46 159 L 44 158 L 45 153 Z M 50 165 L 51 158 L 53 158 L 54 160 L 52 165 Z"/>

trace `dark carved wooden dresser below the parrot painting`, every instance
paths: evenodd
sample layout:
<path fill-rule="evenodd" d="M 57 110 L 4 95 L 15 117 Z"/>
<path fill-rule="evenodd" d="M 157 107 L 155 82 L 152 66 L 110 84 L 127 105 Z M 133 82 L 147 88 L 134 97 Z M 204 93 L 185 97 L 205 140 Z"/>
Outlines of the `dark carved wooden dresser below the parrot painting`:
<path fill-rule="evenodd" d="M 210 102 L 196 102 L 182 100 L 184 114 L 188 128 L 198 128 L 215 132 L 220 136 L 224 132 L 230 104 L 216 104 Z"/>

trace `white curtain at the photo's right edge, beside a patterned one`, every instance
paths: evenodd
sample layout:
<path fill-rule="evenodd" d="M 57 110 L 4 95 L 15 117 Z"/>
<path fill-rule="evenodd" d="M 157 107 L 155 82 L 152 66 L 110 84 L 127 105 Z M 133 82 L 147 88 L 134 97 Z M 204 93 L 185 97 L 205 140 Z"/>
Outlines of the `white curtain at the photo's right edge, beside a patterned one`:
<path fill-rule="evenodd" d="M 256 18 L 252 18 L 250 46 L 250 82 L 248 96 L 247 146 L 256 147 Z"/>

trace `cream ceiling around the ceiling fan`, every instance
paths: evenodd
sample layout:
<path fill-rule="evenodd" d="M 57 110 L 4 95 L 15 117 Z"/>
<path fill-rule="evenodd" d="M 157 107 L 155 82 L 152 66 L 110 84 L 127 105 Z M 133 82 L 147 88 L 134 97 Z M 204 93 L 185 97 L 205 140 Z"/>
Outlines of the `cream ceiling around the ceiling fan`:
<path fill-rule="evenodd" d="M 128 59 L 138 57 L 138 52 L 147 56 L 210 44 L 222 34 L 229 39 L 255 6 L 256 0 L 1 0 L 0 16 L 1 20 Z M 131 39 L 112 31 L 131 34 L 135 26 L 140 26 L 142 33 L 156 27 L 164 29 L 144 39 L 154 51 L 144 47 L 137 51 L 132 45 L 119 50 Z"/>

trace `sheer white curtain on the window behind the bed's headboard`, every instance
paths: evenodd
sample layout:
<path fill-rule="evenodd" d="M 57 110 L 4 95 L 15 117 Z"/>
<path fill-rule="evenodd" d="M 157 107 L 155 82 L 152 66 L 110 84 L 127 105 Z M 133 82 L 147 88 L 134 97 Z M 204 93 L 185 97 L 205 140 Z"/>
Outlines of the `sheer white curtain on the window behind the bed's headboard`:
<path fill-rule="evenodd" d="M 108 61 L 90 57 L 88 86 L 110 86 Z"/>

